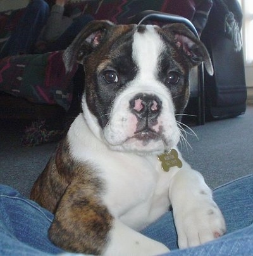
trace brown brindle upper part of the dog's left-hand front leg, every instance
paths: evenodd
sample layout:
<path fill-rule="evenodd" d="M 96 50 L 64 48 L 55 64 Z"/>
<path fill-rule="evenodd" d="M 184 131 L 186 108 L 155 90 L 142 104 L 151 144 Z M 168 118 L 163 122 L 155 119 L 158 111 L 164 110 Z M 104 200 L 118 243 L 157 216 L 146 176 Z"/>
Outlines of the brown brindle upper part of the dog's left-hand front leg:
<path fill-rule="evenodd" d="M 49 228 L 49 238 L 70 252 L 99 255 L 108 240 L 113 217 L 102 205 L 96 179 L 75 177 L 66 188 Z"/>

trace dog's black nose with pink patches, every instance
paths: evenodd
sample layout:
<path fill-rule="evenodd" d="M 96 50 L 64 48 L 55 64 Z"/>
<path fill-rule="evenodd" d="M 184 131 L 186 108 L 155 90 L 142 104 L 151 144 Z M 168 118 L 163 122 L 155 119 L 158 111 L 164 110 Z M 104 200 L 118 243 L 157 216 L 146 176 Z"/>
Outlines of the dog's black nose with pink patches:
<path fill-rule="evenodd" d="M 140 119 L 155 119 L 161 113 L 161 100 L 152 94 L 137 94 L 130 100 L 132 112 Z"/>

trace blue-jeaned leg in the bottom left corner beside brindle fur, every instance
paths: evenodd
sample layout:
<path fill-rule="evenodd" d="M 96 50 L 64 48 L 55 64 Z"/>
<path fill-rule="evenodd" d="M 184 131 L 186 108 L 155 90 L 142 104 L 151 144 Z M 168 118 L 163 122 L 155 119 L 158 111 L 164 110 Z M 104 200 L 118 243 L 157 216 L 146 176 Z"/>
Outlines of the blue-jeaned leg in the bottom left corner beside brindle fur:
<path fill-rule="evenodd" d="M 18 191 L 0 186 L 0 255 L 61 253 L 47 238 L 54 215 Z M 15 254 L 16 253 L 16 254 Z"/>

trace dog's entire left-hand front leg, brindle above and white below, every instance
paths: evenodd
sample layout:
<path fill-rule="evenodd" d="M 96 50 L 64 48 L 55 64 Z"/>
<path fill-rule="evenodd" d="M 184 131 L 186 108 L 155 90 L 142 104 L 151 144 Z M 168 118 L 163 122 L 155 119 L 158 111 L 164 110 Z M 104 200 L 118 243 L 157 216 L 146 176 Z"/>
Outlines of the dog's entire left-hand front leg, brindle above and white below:
<path fill-rule="evenodd" d="M 49 238 L 70 252 L 92 255 L 158 255 L 163 244 L 134 231 L 110 214 L 94 181 L 71 182 L 59 202 Z"/>

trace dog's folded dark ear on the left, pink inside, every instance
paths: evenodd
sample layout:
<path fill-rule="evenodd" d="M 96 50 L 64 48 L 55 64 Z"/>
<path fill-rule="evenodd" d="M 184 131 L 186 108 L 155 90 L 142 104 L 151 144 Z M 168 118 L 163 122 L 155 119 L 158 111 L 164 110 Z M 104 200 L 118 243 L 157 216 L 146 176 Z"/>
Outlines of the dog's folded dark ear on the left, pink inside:
<path fill-rule="evenodd" d="M 114 23 L 108 20 L 89 22 L 63 53 L 66 73 L 71 71 L 75 63 L 83 63 L 85 56 L 101 44 L 106 32 L 113 26 Z"/>

